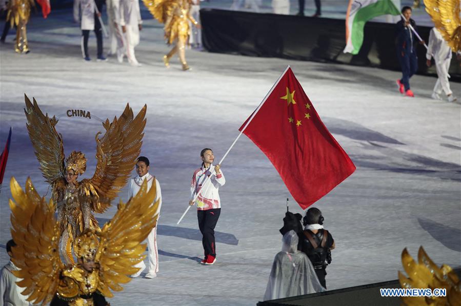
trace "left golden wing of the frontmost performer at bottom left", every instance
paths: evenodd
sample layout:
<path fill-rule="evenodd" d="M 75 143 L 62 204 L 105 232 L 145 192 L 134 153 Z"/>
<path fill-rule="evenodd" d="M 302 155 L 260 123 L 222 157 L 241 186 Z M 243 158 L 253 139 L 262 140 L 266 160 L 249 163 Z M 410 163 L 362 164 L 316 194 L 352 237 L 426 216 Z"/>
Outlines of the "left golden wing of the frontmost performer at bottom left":
<path fill-rule="evenodd" d="M 59 273 L 64 264 L 59 258 L 59 226 L 54 218 L 54 204 L 41 198 L 30 178 L 25 191 L 16 179 L 11 178 L 11 236 L 16 242 L 12 248 L 12 261 L 20 270 L 14 271 L 22 278 L 17 284 L 25 288 L 28 301 L 46 304 L 56 293 Z"/>

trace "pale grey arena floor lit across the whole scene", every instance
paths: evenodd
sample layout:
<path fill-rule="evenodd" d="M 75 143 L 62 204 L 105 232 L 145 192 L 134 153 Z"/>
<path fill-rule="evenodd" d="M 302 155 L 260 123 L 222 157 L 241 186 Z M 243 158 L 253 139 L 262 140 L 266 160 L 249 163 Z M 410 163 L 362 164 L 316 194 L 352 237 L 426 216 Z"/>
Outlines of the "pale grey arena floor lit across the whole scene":
<path fill-rule="evenodd" d="M 144 13 L 143 13 L 144 14 Z M 438 263 L 461 265 L 460 105 L 430 98 L 435 78 L 411 79 L 415 98 L 396 91 L 398 72 L 346 65 L 298 62 L 189 51 L 192 71 L 178 60 L 162 63 L 168 51 L 162 28 L 147 19 L 133 68 L 94 60 L 85 63 L 80 31 L 68 12 L 29 25 L 32 52 L 17 55 L 11 39 L 0 51 L 0 145 L 13 127 L 10 157 L 0 194 L 0 264 L 10 239 L 8 182 L 32 178 L 39 193 L 50 195 L 25 128 L 24 93 L 44 112 L 63 115 L 85 109 L 113 118 L 130 103 L 148 105 L 142 154 L 161 183 L 164 203 L 158 224 L 160 272 L 139 277 L 110 300 L 113 305 L 254 305 L 266 288 L 272 260 L 282 247 L 285 200 L 303 213 L 266 156 L 245 136 L 223 164 L 226 185 L 216 227 L 217 263 L 203 267 L 195 211 L 181 225 L 192 173 L 204 147 L 221 158 L 237 129 L 253 112 L 279 74 L 291 65 L 318 114 L 350 155 L 356 172 L 315 203 L 336 240 L 328 267 L 328 289 L 397 278 L 400 253 L 416 256 L 419 246 Z M 90 52 L 95 56 L 94 36 Z M 454 94 L 461 86 L 451 84 Z M 95 168 L 97 120 L 62 116 L 57 124 L 65 152 L 83 151 L 87 172 Z M 134 172 L 133 172 L 134 175 Z M 127 189 L 121 193 L 127 200 Z M 97 218 L 104 223 L 113 207 Z"/>

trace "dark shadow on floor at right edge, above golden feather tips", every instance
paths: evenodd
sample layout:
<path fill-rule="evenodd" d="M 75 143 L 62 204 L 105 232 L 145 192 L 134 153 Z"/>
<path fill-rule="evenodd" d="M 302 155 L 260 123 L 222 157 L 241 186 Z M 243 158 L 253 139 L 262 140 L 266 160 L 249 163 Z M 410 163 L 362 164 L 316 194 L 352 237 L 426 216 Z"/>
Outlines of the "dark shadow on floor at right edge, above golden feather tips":
<path fill-rule="evenodd" d="M 418 218 L 418 222 L 426 232 L 445 247 L 461 252 L 461 230 L 447 227 L 426 218 Z"/>

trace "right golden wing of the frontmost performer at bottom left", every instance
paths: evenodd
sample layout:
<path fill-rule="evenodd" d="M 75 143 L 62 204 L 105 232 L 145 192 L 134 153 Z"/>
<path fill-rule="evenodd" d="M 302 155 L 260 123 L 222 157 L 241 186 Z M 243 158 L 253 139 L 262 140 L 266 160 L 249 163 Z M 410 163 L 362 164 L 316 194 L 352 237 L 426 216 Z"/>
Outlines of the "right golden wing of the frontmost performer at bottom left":
<path fill-rule="evenodd" d="M 156 195 L 155 183 L 148 191 L 147 180 L 139 192 L 126 204 L 120 202 L 112 220 L 107 222 L 99 235 L 99 248 L 96 262 L 99 262 L 101 282 L 98 290 L 104 296 L 112 297 L 113 291 L 122 291 L 121 283 L 131 280 L 127 275 L 134 274 L 133 268 L 145 258 L 146 244 L 142 242 L 156 226 L 159 201 L 153 202 Z"/>

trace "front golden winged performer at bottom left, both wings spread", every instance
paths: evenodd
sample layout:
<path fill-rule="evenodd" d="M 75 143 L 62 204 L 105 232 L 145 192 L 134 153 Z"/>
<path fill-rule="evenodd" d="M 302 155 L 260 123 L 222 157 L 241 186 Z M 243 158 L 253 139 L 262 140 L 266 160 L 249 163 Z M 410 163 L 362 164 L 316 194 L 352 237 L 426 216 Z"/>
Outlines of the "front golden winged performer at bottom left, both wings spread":
<path fill-rule="evenodd" d="M 125 204 L 120 201 L 114 217 L 101 232 L 86 229 L 75 239 L 77 264 L 65 266 L 58 251 L 59 222 L 54 218 L 55 204 L 36 192 L 30 178 L 25 190 L 11 178 L 11 236 L 16 242 L 12 261 L 19 268 L 14 275 L 23 280 L 19 287 L 28 301 L 42 305 L 106 305 L 104 297 L 122 291 L 121 283 L 138 268 L 146 244 L 141 244 L 156 226 L 159 202 L 155 184 L 147 181 Z M 67 199 L 78 201 L 78 197 Z M 102 302 L 103 301 L 103 302 Z"/>

